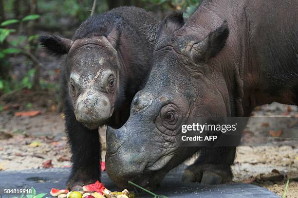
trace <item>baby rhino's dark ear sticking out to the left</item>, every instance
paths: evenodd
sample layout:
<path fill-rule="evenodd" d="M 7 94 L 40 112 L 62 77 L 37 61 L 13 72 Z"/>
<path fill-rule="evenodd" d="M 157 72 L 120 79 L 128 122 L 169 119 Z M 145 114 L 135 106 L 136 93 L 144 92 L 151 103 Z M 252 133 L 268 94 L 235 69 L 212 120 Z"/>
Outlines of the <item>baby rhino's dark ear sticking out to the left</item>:
<path fill-rule="evenodd" d="M 55 55 L 67 54 L 73 43 L 70 39 L 51 35 L 39 36 L 39 42 Z"/>

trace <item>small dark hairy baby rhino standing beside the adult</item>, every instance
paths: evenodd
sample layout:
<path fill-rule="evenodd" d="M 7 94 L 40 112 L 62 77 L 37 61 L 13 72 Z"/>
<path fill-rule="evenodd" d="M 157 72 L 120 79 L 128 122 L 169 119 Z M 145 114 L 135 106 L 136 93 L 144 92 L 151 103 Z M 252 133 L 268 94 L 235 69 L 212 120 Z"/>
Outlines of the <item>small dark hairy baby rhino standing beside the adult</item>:
<path fill-rule="evenodd" d="M 88 18 L 73 39 L 40 36 L 61 68 L 66 129 L 72 152 L 70 189 L 100 180 L 98 127 L 118 128 L 150 71 L 157 20 L 144 9 L 119 7 Z"/>

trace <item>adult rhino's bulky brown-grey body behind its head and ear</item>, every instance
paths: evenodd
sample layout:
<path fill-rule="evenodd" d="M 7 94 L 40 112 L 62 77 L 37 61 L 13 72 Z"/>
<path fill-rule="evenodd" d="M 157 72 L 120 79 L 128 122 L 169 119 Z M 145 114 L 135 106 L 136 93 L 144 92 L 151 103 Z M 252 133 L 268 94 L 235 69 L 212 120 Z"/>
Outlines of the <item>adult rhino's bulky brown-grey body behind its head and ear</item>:
<path fill-rule="evenodd" d="M 230 36 L 219 58 L 241 65 L 244 88 L 279 97 L 298 87 L 297 10 L 297 0 L 204 0 L 180 32 L 204 39 L 226 20 Z"/>

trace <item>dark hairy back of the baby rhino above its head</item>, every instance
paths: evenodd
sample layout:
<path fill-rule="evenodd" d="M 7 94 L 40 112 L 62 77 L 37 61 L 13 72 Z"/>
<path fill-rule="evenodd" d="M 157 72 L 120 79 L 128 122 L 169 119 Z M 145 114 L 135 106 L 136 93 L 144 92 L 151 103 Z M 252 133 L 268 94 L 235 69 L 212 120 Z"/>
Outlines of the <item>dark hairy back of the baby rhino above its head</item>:
<path fill-rule="evenodd" d="M 153 51 L 158 21 L 149 12 L 134 6 L 123 6 L 110 12 L 98 14 L 85 20 L 75 31 L 73 40 L 88 36 L 106 36 L 114 27 L 134 37 L 134 42 L 142 42 Z"/>

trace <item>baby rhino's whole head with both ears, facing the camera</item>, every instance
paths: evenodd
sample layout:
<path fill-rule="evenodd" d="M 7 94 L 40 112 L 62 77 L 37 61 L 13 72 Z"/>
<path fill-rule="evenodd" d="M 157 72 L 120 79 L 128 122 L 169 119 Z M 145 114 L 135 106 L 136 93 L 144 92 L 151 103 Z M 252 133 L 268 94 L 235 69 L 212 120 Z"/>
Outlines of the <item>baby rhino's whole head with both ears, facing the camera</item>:
<path fill-rule="evenodd" d="M 40 36 L 39 41 L 56 55 L 67 54 L 63 70 L 69 103 L 77 121 L 90 129 L 103 125 L 113 113 L 120 95 L 119 59 L 115 50 L 119 33 L 76 40 Z M 62 88 L 65 89 L 65 88 Z"/>

